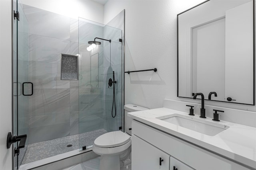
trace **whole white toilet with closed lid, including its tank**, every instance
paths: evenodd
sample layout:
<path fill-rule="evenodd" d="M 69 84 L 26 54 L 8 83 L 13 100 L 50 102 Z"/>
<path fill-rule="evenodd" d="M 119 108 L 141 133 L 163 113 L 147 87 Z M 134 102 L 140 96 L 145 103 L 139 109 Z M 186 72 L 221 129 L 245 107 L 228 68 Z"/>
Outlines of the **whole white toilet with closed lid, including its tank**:
<path fill-rule="evenodd" d="M 100 155 L 100 170 L 120 170 L 120 166 L 131 169 L 132 118 L 127 113 L 147 109 L 134 104 L 124 105 L 124 132 L 108 132 L 95 139 L 92 150 Z"/>

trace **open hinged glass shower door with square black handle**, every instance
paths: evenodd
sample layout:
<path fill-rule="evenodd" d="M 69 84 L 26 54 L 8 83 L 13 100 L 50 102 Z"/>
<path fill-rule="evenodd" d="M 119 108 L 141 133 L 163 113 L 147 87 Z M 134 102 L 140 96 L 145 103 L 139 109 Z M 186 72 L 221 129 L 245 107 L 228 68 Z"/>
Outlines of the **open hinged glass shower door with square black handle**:
<path fill-rule="evenodd" d="M 14 0 L 13 10 L 18 11 L 19 18 L 13 20 L 13 135 L 29 135 L 29 95 L 32 84 L 29 82 L 29 29 L 22 4 Z M 19 143 L 14 144 L 18 148 Z M 24 157 L 28 137 L 24 148 L 14 155 L 14 169 L 17 169 Z"/>

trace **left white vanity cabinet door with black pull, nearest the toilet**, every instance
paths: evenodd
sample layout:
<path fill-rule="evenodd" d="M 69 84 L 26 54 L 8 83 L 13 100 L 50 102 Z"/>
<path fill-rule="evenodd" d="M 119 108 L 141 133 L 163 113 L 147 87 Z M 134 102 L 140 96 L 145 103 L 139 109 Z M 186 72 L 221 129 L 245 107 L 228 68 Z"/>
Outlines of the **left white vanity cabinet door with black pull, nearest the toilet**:
<path fill-rule="evenodd" d="M 132 135 L 132 170 L 169 170 L 169 160 L 170 155 Z"/>

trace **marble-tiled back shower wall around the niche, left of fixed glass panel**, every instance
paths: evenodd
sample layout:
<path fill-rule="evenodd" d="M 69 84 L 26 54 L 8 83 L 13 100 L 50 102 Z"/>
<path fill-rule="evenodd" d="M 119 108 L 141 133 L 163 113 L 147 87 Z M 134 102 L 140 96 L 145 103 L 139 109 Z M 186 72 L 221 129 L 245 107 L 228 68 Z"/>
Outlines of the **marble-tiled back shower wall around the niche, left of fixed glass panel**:
<path fill-rule="evenodd" d="M 78 20 L 23 5 L 29 23 L 29 143 L 78 134 L 78 80 L 60 80 L 61 53 L 78 54 Z"/>

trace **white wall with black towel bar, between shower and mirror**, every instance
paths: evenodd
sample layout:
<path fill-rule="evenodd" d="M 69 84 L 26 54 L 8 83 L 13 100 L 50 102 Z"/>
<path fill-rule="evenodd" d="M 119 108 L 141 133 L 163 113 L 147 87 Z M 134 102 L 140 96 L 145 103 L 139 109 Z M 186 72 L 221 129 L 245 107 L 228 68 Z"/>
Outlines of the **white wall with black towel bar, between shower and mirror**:
<path fill-rule="evenodd" d="M 177 98 L 177 14 L 204 0 L 108 0 L 104 23 L 125 9 L 125 71 L 156 67 L 158 71 L 125 73 L 125 104 L 150 109 L 162 107 L 163 99 Z M 256 106 L 205 101 L 211 106 L 256 111 Z"/>

